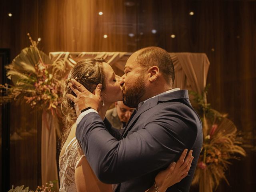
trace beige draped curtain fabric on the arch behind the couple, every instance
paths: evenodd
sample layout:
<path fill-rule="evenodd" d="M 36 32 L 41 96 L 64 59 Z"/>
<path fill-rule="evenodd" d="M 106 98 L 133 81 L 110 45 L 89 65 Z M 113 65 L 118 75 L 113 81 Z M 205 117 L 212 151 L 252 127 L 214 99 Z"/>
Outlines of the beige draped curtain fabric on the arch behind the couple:
<path fill-rule="evenodd" d="M 112 66 L 116 74 L 122 75 L 131 53 L 128 52 L 50 52 L 52 61 L 62 62 L 72 68 L 78 61 L 86 58 L 102 57 Z M 175 81 L 174 87 L 193 90 L 199 94 L 206 86 L 210 62 L 204 53 L 170 53 Z M 46 120 L 46 121 L 45 121 Z M 56 130 L 59 123 L 49 114 L 42 120 L 42 183 L 57 179 Z"/>

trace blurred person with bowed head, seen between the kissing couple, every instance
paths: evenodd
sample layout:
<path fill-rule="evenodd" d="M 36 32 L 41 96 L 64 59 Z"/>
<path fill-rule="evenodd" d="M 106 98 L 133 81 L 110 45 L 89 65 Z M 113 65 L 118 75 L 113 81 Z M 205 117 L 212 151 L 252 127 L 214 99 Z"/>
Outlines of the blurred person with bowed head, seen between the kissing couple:
<path fill-rule="evenodd" d="M 116 129 L 122 129 L 130 119 L 134 108 L 130 108 L 122 101 L 115 102 L 115 107 L 106 112 L 106 118 Z"/>

